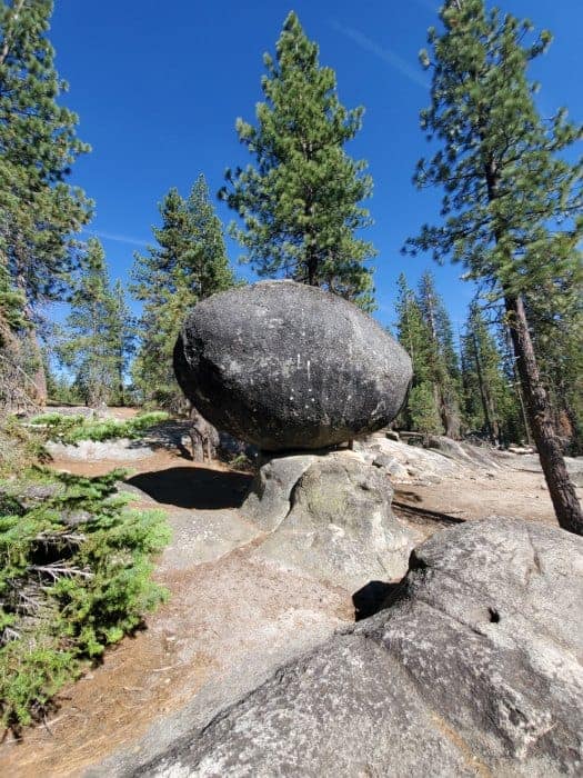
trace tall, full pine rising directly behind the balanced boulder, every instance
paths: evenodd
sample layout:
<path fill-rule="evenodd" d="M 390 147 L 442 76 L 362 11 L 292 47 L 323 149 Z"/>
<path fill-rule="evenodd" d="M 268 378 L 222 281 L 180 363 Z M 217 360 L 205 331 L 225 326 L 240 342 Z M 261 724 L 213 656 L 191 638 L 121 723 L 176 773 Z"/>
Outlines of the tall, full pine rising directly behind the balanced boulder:
<path fill-rule="evenodd" d="M 339 101 L 335 73 L 319 64 L 291 12 L 273 59 L 264 56 L 265 101 L 257 127 L 238 119 L 240 141 L 257 167 L 227 172 L 220 194 L 241 217 L 232 232 L 260 276 L 292 278 L 328 288 L 372 310 L 371 243 L 355 232 L 371 223 L 359 203 L 372 191 L 365 163 L 344 151 L 362 123 L 362 108 Z"/>

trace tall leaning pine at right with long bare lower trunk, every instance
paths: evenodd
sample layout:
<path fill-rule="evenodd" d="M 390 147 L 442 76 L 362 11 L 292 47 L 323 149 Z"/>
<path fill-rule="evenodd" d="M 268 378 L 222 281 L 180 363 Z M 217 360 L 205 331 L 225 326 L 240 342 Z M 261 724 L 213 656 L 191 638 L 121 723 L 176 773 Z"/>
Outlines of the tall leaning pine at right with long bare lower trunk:
<path fill-rule="evenodd" d="M 463 262 L 491 300 L 501 300 L 559 523 L 582 533 L 525 309 L 525 298 L 534 299 L 553 279 L 581 279 L 583 168 L 561 152 L 582 130 L 566 121 L 565 111 L 550 123 L 536 111 L 526 68 L 549 44 L 547 32 L 526 47 L 530 22 L 501 17 L 497 9 L 486 12 L 483 0 L 450 0 L 440 18 L 441 34 L 429 32 L 432 56 L 422 52 L 433 86 L 421 119 L 442 148 L 429 162 L 421 160 L 416 183 L 444 188 L 444 221 L 424 226 L 409 248 Z"/>

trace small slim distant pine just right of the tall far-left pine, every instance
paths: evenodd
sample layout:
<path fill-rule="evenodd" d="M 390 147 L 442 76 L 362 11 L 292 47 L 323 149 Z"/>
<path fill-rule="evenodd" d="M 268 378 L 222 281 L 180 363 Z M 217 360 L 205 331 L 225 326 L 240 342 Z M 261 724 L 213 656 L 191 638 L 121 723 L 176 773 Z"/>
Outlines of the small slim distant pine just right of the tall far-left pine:
<path fill-rule="evenodd" d="M 105 255 L 97 238 L 88 241 L 70 300 L 68 336 L 59 346 L 62 362 L 87 406 L 108 402 L 117 389 L 118 353 L 112 331 L 113 299 Z"/>

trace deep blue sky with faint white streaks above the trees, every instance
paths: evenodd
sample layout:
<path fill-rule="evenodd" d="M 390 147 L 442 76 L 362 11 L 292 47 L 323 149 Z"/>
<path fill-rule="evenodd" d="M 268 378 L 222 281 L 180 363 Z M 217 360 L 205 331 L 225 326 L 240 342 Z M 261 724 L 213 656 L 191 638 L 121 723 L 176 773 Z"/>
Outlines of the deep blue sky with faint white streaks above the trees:
<path fill-rule="evenodd" d="M 542 82 L 539 104 L 545 116 L 566 106 L 583 121 L 583 2 L 497 4 L 554 33 L 531 71 Z M 151 240 L 157 203 L 170 187 L 187 194 L 203 172 L 215 193 L 227 167 L 249 161 L 234 121 L 254 119 L 262 54 L 273 51 L 293 9 L 319 42 L 321 63 L 335 70 L 341 101 L 365 107 L 363 129 L 346 150 L 369 161 L 374 180 L 366 206 L 375 221 L 368 237 L 379 250 L 375 316 L 394 320 L 401 271 L 414 285 L 431 268 L 461 326 L 473 293 L 459 280 L 461 269 L 400 255 L 408 236 L 439 218 L 439 193 L 418 192 L 411 183 L 426 149 L 419 110 L 429 102 L 429 79 L 418 52 L 438 7 L 432 0 L 56 0 L 50 37 L 57 66 L 70 83 L 66 100 L 80 116 L 79 136 L 93 148 L 71 181 L 96 200 L 90 231 L 103 241 L 112 277 L 127 280 L 132 252 Z M 227 225 L 232 212 L 223 203 L 217 208 Z M 241 250 L 228 246 L 237 265 Z M 248 269 L 238 272 L 250 277 Z"/>

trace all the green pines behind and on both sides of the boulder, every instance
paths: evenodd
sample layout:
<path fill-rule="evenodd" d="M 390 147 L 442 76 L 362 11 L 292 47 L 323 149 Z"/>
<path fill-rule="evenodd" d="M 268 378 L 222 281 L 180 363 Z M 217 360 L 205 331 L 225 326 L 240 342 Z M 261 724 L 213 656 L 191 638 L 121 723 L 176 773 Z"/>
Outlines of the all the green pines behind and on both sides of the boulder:
<path fill-rule="evenodd" d="M 0 407 L 42 402 L 49 389 L 53 399 L 178 410 L 171 352 L 185 313 L 237 283 L 223 227 L 202 174 L 187 198 L 170 189 L 152 246 L 134 258 L 132 315 L 99 241 L 74 237 L 92 203 L 67 178 L 90 149 L 59 104 L 51 12 L 50 0 L 0 3 Z M 396 335 L 414 377 L 399 423 L 532 440 L 560 522 L 583 531 L 563 459 L 583 450 L 583 167 L 564 153 L 583 131 L 566 111 L 549 121 L 537 112 L 526 71 L 551 36 L 527 44 L 531 32 L 484 0 L 446 0 L 429 31 L 422 63 L 433 86 L 421 123 L 435 153 L 420 160 L 415 182 L 441 188 L 442 219 L 404 251 L 460 262 L 479 296 L 454 333 L 431 273 L 416 290 L 401 276 Z M 363 109 L 341 104 L 334 71 L 293 12 L 264 64 L 255 122 L 237 121 L 252 161 L 228 170 L 219 192 L 238 217 L 230 232 L 259 277 L 373 311 L 376 251 L 362 205 L 372 180 L 345 151 Z M 70 303 L 61 329 L 46 316 L 58 300 Z"/>

